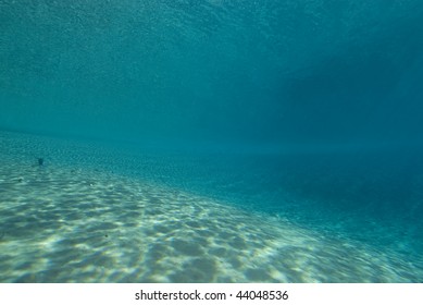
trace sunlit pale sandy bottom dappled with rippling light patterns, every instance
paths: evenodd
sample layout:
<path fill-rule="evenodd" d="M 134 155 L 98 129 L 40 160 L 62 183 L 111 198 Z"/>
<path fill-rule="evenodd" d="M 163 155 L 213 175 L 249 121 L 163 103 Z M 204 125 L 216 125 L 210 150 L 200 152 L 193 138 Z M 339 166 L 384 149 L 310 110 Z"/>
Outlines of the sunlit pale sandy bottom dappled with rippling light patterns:
<path fill-rule="evenodd" d="M 17 146 L 3 151 L 1 282 L 423 279 L 422 269 L 395 252 L 329 237 L 287 218 L 108 171 L 37 167 Z"/>

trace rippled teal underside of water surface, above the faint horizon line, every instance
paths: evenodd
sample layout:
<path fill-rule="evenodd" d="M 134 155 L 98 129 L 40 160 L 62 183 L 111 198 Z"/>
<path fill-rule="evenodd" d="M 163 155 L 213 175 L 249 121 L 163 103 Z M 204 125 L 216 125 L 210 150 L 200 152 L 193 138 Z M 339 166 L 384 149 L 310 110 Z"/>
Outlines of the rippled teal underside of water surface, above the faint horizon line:
<path fill-rule="evenodd" d="M 420 141 L 420 1 L 0 3 L 0 126 L 101 138 Z"/>

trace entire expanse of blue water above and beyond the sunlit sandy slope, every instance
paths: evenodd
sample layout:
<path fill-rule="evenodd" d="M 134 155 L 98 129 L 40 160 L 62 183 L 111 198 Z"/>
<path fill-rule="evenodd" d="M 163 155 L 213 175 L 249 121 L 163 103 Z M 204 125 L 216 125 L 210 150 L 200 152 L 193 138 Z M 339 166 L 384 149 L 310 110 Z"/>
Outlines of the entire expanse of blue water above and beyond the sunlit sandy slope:
<path fill-rule="evenodd" d="M 25 190 L 16 172 L 50 181 L 25 168 L 42 157 L 362 243 L 414 272 L 350 281 L 422 282 L 422 29 L 419 0 L 0 0 L 1 207 Z M 217 276 L 199 281 L 229 281 Z M 324 276 L 287 280 L 343 281 Z"/>

